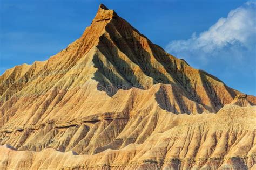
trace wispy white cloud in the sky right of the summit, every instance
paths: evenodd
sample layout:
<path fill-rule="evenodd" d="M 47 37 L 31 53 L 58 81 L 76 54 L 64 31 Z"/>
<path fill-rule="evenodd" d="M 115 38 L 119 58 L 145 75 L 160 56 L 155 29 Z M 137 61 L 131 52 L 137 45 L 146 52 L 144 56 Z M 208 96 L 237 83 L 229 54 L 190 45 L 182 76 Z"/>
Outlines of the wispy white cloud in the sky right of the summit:
<path fill-rule="evenodd" d="M 256 2 L 250 1 L 220 18 L 207 31 L 190 39 L 175 40 L 166 46 L 166 51 L 178 57 L 197 55 L 207 60 L 219 52 L 237 53 L 253 50 L 256 42 Z M 241 57 L 239 55 L 238 57 Z"/>

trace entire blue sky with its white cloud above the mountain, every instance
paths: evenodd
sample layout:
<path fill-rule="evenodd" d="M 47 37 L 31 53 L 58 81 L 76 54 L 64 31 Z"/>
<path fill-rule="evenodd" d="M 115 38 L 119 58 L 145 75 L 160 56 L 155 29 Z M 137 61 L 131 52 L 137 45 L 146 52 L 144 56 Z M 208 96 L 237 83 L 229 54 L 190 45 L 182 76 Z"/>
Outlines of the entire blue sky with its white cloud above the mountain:
<path fill-rule="evenodd" d="M 76 40 L 100 3 L 153 43 L 256 95 L 255 1 L 0 1 L 0 74 L 43 61 Z"/>

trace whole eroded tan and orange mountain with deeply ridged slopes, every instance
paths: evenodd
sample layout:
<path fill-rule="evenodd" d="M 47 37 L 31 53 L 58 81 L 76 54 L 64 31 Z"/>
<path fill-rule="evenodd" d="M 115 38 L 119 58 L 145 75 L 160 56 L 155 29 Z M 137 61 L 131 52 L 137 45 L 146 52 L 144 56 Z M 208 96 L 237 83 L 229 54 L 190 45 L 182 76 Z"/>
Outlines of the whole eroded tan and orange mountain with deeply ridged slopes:
<path fill-rule="evenodd" d="M 99 6 L 49 60 L 0 76 L 0 169 L 255 169 L 256 97 Z"/>

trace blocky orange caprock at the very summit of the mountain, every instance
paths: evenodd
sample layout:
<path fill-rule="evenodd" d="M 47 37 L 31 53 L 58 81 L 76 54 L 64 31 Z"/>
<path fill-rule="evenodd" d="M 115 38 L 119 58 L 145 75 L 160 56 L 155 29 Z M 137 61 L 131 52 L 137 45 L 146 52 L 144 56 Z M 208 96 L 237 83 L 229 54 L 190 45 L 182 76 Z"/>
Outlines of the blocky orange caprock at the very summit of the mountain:
<path fill-rule="evenodd" d="M 109 20 L 111 18 L 118 17 L 117 13 L 114 10 L 109 10 L 105 5 L 100 4 L 98 12 L 96 13 L 95 18 L 92 22 L 99 22 L 101 20 Z"/>

